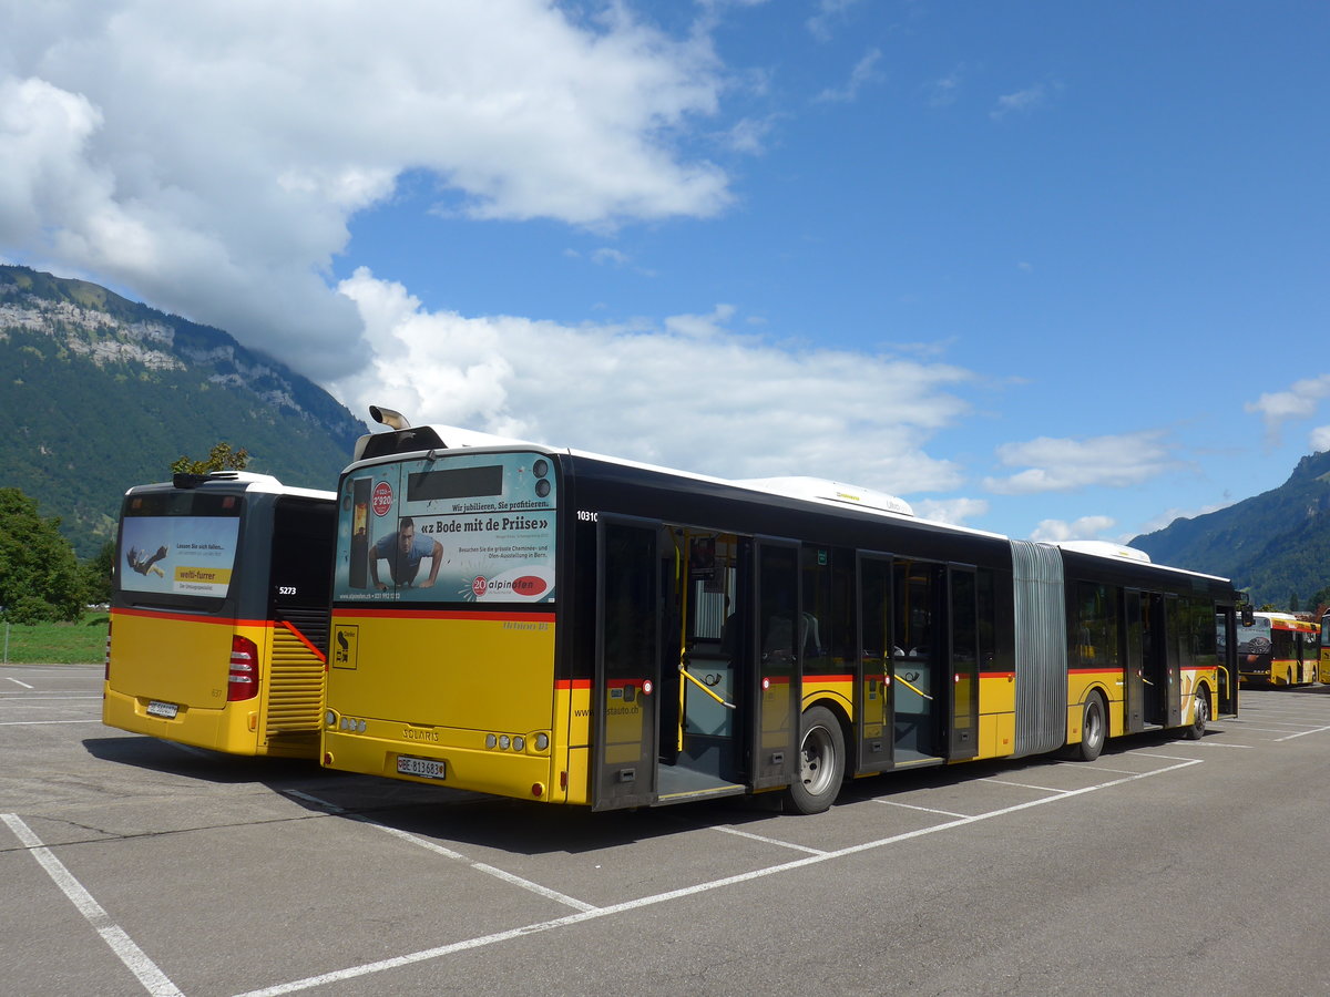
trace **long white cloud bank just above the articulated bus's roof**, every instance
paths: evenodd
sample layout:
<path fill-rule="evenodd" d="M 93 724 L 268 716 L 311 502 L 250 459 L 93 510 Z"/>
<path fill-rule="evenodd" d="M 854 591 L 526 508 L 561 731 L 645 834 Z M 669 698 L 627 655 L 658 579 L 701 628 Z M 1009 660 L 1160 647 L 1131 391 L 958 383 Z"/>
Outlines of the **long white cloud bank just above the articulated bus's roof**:
<path fill-rule="evenodd" d="M 721 477 L 814 475 L 894 495 L 960 484 L 924 452 L 967 411 L 942 363 L 793 352 L 729 331 L 732 306 L 664 328 L 426 311 L 360 269 L 342 292 L 374 351 L 331 388 L 363 412 L 466 425 Z M 978 509 L 972 509 L 978 512 Z"/>

